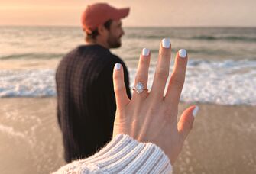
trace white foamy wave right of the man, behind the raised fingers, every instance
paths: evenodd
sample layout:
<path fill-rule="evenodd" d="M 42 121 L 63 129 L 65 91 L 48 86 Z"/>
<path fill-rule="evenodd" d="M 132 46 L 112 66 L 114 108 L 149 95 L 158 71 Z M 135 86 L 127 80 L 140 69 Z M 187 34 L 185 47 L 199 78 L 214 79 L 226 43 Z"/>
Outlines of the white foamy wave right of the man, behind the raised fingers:
<path fill-rule="evenodd" d="M 256 105 L 255 69 L 256 61 L 249 60 L 190 60 L 180 101 L 217 105 Z M 136 69 L 130 69 L 132 85 L 135 73 Z M 151 89 L 153 78 L 152 68 L 148 89 Z"/>

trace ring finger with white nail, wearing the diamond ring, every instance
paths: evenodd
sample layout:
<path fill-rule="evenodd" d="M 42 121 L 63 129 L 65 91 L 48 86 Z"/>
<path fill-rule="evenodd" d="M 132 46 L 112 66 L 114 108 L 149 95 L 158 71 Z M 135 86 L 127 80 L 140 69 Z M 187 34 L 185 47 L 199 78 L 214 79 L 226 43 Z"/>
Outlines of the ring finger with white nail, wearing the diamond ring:
<path fill-rule="evenodd" d="M 150 58 L 151 58 L 151 53 L 150 50 L 147 48 L 144 48 L 141 51 L 141 56 L 140 60 L 138 63 L 138 71 L 135 77 L 135 83 L 134 87 L 134 93 L 133 93 L 133 98 L 144 98 L 147 96 L 147 79 L 148 79 L 148 69 L 149 69 L 149 64 L 150 64 Z M 139 83 L 143 85 L 142 90 L 139 90 L 137 87 L 139 86 Z M 141 93 L 140 93 L 141 92 Z"/>

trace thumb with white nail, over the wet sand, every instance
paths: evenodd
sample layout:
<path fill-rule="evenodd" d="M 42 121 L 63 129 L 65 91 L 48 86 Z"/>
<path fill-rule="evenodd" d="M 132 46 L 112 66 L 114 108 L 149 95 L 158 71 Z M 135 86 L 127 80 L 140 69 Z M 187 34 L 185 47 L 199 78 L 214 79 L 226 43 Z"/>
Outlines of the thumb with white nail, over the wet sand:
<path fill-rule="evenodd" d="M 197 112 L 199 111 L 199 107 L 196 105 L 190 106 L 187 108 L 180 117 L 180 121 L 178 122 L 178 131 L 180 134 L 180 140 L 184 142 L 188 134 L 190 134 L 190 130 L 192 130 L 194 118 L 196 117 Z"/>

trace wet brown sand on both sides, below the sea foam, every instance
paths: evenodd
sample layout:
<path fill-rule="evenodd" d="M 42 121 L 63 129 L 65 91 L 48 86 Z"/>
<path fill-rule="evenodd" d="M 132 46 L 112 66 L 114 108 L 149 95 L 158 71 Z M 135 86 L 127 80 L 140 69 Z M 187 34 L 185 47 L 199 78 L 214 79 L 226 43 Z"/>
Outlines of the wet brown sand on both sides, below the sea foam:
<path fill-rule="evenodd" d="M 1 173 L 49 173 L 64 164 L 56 98 L 0 98 L 0 106 Z M 199 108 L 174 173 L 256 173 L 256 107 Z"/>

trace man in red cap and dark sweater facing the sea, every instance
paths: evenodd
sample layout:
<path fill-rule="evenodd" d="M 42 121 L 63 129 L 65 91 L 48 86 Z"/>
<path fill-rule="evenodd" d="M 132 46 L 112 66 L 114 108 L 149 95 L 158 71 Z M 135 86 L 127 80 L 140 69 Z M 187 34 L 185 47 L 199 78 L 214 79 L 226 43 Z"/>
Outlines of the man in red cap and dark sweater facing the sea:
<path fill-rule="evenodd" d="M 76 47 L 57 68 L 57 118 L 63 133 L 65 159 L 70 163 L 96 153 L 112 138 L 115 63 L 124 67 L 125 86 L 131 98 L 125 63 L 109 48 L 121 46 L 122 18 L 129 8 L 89 5 L 82 15 L 86 45 Z"/>

